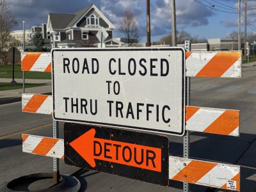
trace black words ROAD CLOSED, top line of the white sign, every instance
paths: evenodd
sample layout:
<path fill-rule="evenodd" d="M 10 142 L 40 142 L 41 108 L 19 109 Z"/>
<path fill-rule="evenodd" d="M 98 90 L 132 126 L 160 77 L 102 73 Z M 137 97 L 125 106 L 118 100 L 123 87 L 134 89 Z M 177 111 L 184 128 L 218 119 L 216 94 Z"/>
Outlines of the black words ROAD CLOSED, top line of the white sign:
<path fill-rule="evenodd" d="M 168 60 L 161 58 L 140 58 L 136 60 L 129 58 L 124 63 L 121 58 L 111 58 L 102 65 L 108 65 L 109 74 L 119 76 L 168 76 L 169 65 Z M 63 73 L 74 74 L 98 74 L 100 64 L 97 58 L 79 60 L 78 58 L 63 58 Z M 159 71 L 159 73 L 157 73 Z"/>

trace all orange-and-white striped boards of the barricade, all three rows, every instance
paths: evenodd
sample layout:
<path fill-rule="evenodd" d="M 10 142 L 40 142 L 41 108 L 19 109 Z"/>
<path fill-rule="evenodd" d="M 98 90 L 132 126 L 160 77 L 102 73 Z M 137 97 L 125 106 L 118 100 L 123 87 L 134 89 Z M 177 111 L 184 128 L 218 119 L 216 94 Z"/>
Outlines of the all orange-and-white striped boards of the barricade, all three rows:
<path fill-rule="evenodd" d="M 51 72 L 50 52 L 22 52 L 22 71 Z M 241 77 L 241 52 L 186 52 L 186 77 Z M 239 111 L 186 106 L 186 130 L 239 136 Z M 52 115 L 52 96 L 22 94 L 22 111 Z M 22 150 L 63 159 L 61 139 L 22 134 Z M 240 191 L 240 166 L 169 157 L 169 179 Z"/>

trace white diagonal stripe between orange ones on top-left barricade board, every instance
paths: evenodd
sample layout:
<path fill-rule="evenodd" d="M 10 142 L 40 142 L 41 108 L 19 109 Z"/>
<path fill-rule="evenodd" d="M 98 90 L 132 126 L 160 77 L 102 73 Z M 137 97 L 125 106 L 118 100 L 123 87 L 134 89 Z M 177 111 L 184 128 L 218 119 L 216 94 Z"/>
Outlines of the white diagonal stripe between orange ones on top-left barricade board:
<path fill-rule="evenodd" d="M 30 71 L 44 72 L 50 63 L 51 63 L 51 53 L 42 52 L 38 60 L 36 60 L 33 67 L 31 67 Z"/>

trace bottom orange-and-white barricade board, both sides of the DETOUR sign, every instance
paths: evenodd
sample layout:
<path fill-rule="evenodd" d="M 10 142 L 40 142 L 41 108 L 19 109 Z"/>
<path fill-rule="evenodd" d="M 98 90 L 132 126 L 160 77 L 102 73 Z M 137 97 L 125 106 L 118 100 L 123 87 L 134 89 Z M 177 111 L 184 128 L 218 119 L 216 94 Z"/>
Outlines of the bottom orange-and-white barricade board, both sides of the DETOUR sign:
<path fill-rule="evenodd" d="M 22 151 L 63 159 L 64 141 L 22 134 Z M 240 166 L 169 156 L 169 179 L 239 191 Z"/>

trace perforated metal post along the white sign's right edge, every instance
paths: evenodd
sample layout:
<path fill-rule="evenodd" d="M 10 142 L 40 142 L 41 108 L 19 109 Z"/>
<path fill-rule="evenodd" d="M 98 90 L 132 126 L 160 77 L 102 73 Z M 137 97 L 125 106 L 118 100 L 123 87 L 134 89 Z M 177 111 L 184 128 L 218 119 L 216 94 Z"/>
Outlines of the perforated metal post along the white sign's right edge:
<path fill-rule="evenodd" d="M 185 41 L 185 50 L 190 51 L 190 42 Z M 189 106 L 190 102 L 190 77 L 186 77 L 186 106 Z M 185 124 L 186 127 L 186 124 Z M 189 158 L 189 131 L 185 131 L 183 137 L 183 157 Z M 183 182 L 183 191 L 189 192 L 188 182 Z"/>

